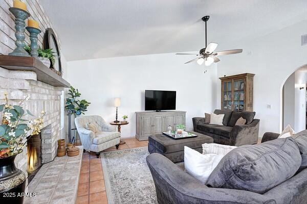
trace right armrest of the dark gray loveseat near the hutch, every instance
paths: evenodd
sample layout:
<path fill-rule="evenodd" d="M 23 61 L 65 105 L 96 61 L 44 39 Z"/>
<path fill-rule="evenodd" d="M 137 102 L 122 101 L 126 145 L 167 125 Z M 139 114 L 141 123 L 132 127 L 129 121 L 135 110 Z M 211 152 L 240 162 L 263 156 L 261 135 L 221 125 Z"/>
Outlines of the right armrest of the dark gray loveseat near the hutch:
<path fill-rule="evenodd" d="M 245 144 L 257 144 L 259 123 L 259 119 L 254 119 L 250 124 L 233 126 L 230 133 L 230 145 L 241 146 Z"/>

